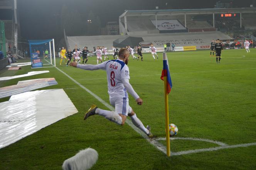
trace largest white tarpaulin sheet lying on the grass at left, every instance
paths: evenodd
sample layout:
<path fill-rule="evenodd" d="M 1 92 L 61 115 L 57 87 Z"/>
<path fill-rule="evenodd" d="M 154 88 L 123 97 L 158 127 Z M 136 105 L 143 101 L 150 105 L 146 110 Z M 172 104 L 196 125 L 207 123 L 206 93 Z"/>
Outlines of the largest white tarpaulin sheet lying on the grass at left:
<path fill-rule="evenodd" d="M 0 103 L 0 148 L 77 112 L 63 89 L 13 95 Z"/>

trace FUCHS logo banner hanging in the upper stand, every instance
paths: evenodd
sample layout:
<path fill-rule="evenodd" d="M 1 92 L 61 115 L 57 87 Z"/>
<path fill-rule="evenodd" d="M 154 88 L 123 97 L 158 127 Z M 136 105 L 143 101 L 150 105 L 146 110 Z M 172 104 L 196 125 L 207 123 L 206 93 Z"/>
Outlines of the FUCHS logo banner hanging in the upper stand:
<path fill-rule="evenodd" d="M 162 30 L 186 30 L 178 20 L 151 20 L 152 24 L 157 25 L 157 29 Z"/>

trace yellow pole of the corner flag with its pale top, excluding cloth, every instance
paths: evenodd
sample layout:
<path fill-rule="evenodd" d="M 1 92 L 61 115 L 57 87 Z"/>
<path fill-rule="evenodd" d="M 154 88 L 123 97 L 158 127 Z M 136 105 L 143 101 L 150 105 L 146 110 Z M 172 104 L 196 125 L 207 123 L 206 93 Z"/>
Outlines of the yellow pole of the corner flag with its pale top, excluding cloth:
<path fill-rule="evenodd" d="M 167 60 L 166 52 L 163 52 L 163 61 Z M 170 132 L 169 132 L 169 106 L 168 106 L 168 93 L 167 93 L 167 75 L 163 77 L 164 81 L 164 95 L 165 95 L 165 132 L 166 132 L 166 155 L 171 156 L 170 152 Z"/>

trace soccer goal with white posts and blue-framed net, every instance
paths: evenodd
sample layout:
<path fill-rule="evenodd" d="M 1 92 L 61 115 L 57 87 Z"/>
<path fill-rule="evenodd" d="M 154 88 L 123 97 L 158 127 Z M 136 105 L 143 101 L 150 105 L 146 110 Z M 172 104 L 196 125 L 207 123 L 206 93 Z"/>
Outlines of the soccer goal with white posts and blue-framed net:
<path fill-rule="evenodd" d="M 54 39 L 29 40 L 31 67 L 56 66 Z"/>

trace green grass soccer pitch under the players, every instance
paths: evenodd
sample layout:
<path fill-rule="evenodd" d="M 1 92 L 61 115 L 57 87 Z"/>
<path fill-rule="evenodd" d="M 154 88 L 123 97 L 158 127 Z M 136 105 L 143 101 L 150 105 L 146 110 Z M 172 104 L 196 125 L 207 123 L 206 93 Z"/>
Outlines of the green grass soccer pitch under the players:
<path fill-rule="evenodd" d="M 167 53 L 173 84 L 169 94 L 170 123 L 178 126 L 177 137 L 216 140 L 227 145 L 256 142 L 256 49 L 250 53 L 244 49 L 223 50 L 220 64 L 216 64 L 216 57 L 209 55 L 209 50 Z M 153 135 L 164 138 L 162 52 L 158 56 L 158 61 L 151 54 L 143 54 L 144 61 L 130 56 L 130 83 L 144 101 L 138 106 L 130 96 L 130 106 L 145 126 L 152 127 Z M 88 64 L 96 64 L 96 57 L 89 57 Z M 60 66 L 59 58 L 56 66 L 109 103 L 104 71 Z M 0 149 L 0 170 L 61 170 L 64 160 L 88 147 L 99 153 L 92 170 L 256 169 L 255 145 L 168 158 L 127 124 L 119 126 L 98 115 L 83 121 L 91 104 L 102 109 L 107 109 L 106 106 L 54 67 L 3 69 L 0 77 L 42 70 L 50 72 L 0 81 L 0 87 L 22 80 L 54 77 L 58 85 L 43 89 L 63 88 L 79 112 Z M 173 152 L 216 146 L 203 141 L 171 140 Z"/>

